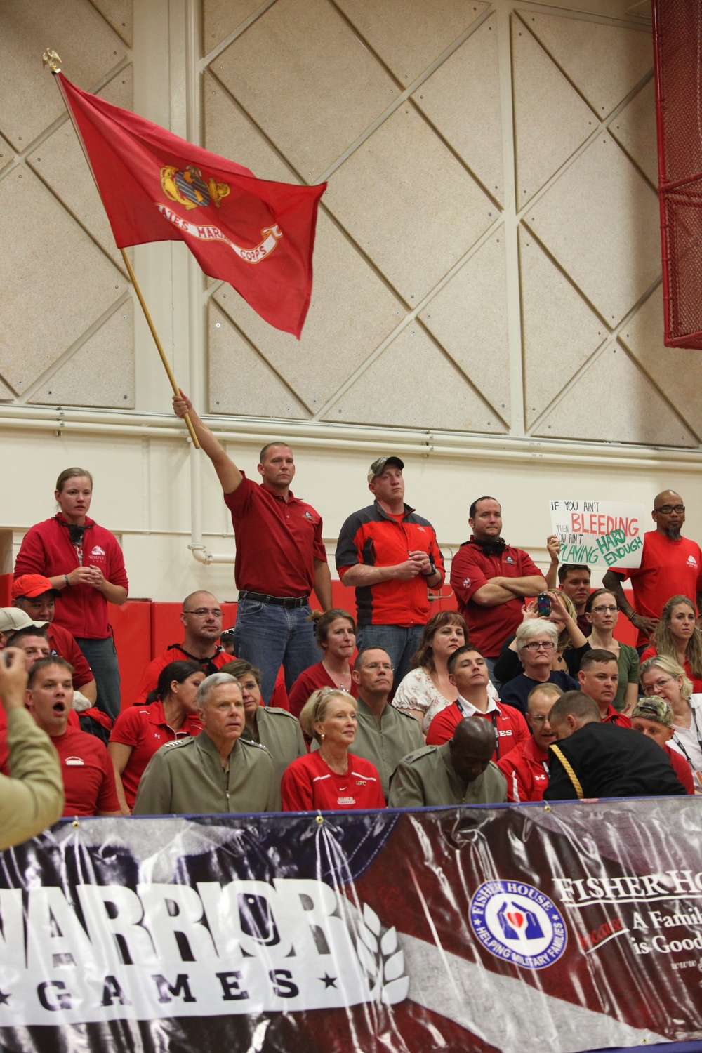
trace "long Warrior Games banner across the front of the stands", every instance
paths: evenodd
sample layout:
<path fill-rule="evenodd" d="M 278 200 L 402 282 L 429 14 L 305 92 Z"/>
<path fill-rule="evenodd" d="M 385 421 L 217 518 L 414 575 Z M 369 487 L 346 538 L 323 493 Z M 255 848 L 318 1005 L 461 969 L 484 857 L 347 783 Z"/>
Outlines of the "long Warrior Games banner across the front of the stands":
<path fill-rule="evenodd" d="M 86 819 L 0 854 L 0 1047 L 702 1039 L 702 801 Z"/>

